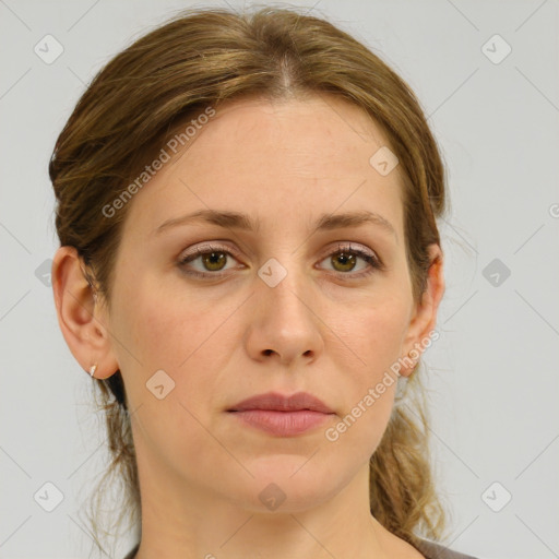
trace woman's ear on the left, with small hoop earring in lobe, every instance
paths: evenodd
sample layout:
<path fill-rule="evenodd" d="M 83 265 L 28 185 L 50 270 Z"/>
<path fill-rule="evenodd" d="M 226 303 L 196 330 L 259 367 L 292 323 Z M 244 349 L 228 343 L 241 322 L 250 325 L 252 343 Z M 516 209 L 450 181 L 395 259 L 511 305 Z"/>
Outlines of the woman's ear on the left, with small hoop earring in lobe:
<path fill-rule="evenodd" d="M 95 378 L 105 379 L 119 366 L 115 358 L 98 296 L 84 275 L 84 264 L 74 247 L 60 247 L 52 261 L 52 290 L 58 323 L 70 352 L 82 369 L 97 365 Z"/>

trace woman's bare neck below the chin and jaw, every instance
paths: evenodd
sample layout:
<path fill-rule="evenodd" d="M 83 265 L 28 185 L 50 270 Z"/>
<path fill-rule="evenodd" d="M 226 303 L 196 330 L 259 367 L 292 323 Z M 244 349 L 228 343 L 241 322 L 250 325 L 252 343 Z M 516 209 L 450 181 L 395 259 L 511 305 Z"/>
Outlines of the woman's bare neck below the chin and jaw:
<path fill-rule="evenodd" d="M 169 476 L 140 477 L 142 539 L 135 559 L 388 559 L 389 550 L 411 547 L 371 515 L 368 464 L 332 497 L 320 496 L 310 507 L 287 507 L 286 500 L 274 511 L 243 507 L 209 488 L 177 490 Z"/>

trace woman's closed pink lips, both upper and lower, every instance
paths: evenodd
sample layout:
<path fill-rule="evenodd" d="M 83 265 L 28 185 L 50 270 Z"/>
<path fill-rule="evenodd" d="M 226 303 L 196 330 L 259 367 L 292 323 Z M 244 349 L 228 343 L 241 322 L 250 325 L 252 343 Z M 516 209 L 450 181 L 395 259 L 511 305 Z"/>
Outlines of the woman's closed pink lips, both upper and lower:
<path fill-rule="evenodd" d="M 326 421 L 334 412 L 307 392 L 251 396 L 227 411 L 245 424 L 280 437 L 301 435 Z"/>

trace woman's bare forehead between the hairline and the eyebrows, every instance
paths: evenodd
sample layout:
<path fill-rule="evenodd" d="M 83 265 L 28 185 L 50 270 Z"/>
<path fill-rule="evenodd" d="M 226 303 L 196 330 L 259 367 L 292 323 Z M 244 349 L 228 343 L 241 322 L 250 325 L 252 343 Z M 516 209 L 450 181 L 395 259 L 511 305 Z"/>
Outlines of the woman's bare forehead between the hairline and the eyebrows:
<path fill-rule="evenodd" d="M 253 97 L 216 107 L 204 122 L 134 195 L 130 226 L 153 233 L 204 209 L 253 213 L 264 223 L 310 223 L 314 212 L 336 209 L 401 222 L 400 169 L 382 176 L 373 168 L 371 156 L 389 142 L 357 106 L 326 95 Z"/>

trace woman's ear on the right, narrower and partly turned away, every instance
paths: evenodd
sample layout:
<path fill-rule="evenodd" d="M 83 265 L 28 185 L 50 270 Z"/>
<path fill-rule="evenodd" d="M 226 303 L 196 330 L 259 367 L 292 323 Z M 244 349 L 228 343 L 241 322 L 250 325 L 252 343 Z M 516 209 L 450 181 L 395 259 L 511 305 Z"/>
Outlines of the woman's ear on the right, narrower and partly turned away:
<path fill-rule="evenodd" d="M 404 338 L 404 365 L 401 374 L 408 377 L 423 352 L 429 347 L 430 340 L 436 340 L 433 331 L 437 324 L 439 304 L 444 294 L 443 258 L 439 245 L 429 246 L 430 266 L 427 285 L 420 302 L 414 302 L 409 326 Z"/>

